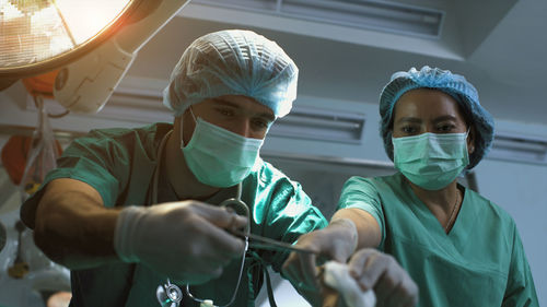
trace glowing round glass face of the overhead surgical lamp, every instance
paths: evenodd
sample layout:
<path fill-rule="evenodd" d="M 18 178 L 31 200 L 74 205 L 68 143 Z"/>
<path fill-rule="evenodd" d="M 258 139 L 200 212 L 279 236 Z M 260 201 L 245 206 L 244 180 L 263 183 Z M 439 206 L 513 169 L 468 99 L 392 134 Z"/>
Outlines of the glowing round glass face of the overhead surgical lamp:
<path fill-rule="evenodd" d="M 0 0 L 0 76 L 58 68 L 114 34 L 131 0 Z"/>

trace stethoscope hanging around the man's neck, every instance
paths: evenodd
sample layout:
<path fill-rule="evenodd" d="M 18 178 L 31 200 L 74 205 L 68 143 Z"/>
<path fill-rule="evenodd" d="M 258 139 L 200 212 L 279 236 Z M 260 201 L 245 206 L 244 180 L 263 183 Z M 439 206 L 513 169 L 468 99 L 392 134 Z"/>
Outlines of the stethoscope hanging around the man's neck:
<path fill-rule="evenodd" d="M 172 132 L 173 132 L 173 130 L 171 130 L 170 132 L 167 132 L 165 134 L 165 137 L 163 137 L 163 139 L 160 143 L 160 147 L 158 150 L 158 165 L 154 169 L 153 179 L 152 179 L 152 191 L 151 191 L 151 202 L 150 202 L 151 204 L 158 203 L 158 181 L 160 178 L 160 169 L 161 169 L 161 163 L 162 163 L 162 157 L 163 157 L 163 150 L 165 147 L 165 143 L 168 139 L 168 135 L 171 135 Z M 223 202 L 220 203 L 220 206 L 226 208 L 226 209 L 230 208 L 236 214 L 247 216 L 247 219 L 248 219 L 249 217 L 249 209 L 248 209 L 248 205 L 241 200 L 241 196 L 242 196 L 242 184 L 238 184 L 236 197 L 229 198 L 229 199 L 224 200 Z M 244 250 L 243 255 L 245 255 L 245 252 L 247 251 L 247 248 L 248 248 L 248 234 L 251 233 L 249 225 L 251 224 L 247 223 L 247 225 L 245 226 L 245 228 L 243 231 L 245 234 L 245 236 L 244 236 L 245 250 Z M 234 303 L 235 297 L 237 295 L 237 290 L 240 288 L 241 278 L 243 275 L 244 263 L 245 263 L 245 256 L 242 257 L 242 263 L 241 263 L 240 273 L 237 276 L 237 283 L 235 284 L 233 295 L 230 298 L 230 302 L 228 304 L 214 305 L 213 302 L 210 299 L 198 298 L 191 294 L 190 286 L 188 284 L 186 285 L 186 287 L 184 287 L 184 291 L 188 297 L 200 303 L 201 307 L 228 307 Z M 155 291 L 155 296 L 156 296 L 158 302 L 160 303 L 160 305 L 162 307 L 178 307 L 181 305 L 181 302 L 183 300 L 183 291 L 181 290 L 179 286 L 177 286 L 174 283 L 171 283 L 171 280 L 167 279 L 165 284 L 160 284 L 158 286 L 158 288 Z"/>

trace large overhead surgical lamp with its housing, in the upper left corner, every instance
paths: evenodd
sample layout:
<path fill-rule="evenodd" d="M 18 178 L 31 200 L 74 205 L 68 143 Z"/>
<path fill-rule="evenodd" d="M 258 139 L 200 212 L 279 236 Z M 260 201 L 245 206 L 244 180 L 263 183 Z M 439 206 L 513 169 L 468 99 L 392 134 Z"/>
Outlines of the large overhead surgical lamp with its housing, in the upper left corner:
<path fill-rule="evenodd" d="M 0 90 L 59 69 L 55 99 L 96 113 L 137 51 L 188 2 L 0 0 Z"/>

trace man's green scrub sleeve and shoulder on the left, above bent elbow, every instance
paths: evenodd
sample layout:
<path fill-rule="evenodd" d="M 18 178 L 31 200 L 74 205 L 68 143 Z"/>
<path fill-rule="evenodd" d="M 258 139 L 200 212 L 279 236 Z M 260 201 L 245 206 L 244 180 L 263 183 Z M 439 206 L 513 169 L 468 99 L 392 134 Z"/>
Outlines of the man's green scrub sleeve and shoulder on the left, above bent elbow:
<path fill-rule="evenodd" d="M 136 199 L 131 190 L 147 190 L 143 187 L 149 180 L 142 174 L 153 169 L 151 160 L 155 156 L 152 145 L 155 132 L 168 127 L 151 125 L 142 129 L 92 130 L 88 135 L 75 139 L 57 161 L 57 168 L 47 174 L 40 189 L 23 204 L 23 222 L 34 227 L 34 215 L 44 187 L 58 178 L 77 179 L 92 186 L 101 194 L 105 206 L 121 205 L 123 202 L 139 204 L 142 201 Z"/>

